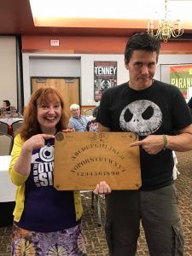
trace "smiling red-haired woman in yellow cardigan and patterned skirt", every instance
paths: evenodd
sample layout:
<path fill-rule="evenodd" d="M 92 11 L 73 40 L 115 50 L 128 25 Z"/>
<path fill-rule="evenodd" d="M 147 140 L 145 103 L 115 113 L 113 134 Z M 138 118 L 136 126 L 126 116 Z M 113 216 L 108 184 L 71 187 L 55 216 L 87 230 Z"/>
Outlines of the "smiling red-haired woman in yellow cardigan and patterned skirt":
<path fill-rule="evenodd" d="M 9 166 L 17 186 L 12 255 L 86 255 L 79 192 L 53 186 L 55 133 L 66 129 L 59 92 L 36 90 L 15 137 Z"/>

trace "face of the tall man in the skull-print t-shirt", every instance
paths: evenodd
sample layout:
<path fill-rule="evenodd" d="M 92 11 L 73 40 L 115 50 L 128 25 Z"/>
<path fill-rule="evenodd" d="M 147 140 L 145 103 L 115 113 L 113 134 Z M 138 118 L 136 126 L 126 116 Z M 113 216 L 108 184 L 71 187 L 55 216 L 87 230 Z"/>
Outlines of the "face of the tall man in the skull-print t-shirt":
<path fill-rule="evenodd" d="M 143 49 L 133 51 L 130 61 L 125 60 L 125 67 L 129 70 L 129 85 L 134 90 L 148 88 L 153 81 L 156 70 L 156 52 L 148 52 Z"/>

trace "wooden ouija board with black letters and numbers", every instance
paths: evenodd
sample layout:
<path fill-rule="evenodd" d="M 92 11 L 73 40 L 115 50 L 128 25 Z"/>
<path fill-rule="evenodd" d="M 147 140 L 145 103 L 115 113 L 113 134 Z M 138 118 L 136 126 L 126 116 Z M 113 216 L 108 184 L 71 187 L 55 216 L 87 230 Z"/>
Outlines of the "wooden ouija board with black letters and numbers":
<path fill-rule="evenodd" d="M 59 132 L 55 135 L 54 186 L 90 190 L 106 181 L 111 189 L 139 189 L 139 148 L 131 132 Z"/>

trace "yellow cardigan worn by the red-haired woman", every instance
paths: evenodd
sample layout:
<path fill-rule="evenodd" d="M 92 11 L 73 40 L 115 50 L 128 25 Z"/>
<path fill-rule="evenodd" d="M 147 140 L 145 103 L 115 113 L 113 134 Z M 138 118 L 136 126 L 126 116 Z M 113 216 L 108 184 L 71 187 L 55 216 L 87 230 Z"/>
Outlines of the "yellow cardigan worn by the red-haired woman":
<path fill-rule="evenodd" d="M 16 172 L 14 169 L 15 162 L 18 159 L 20 155 L 20 151 L 22 148 L 24 141 L 21 139 L 20 134 L 18 134 L 15 137 L 14 141 L 14 147 L 11 152 L 11 162 L 9 166 L 9 175 L 11 178 L 12 183 L 14 183 L 17 186 L 16 189 L 16 196 L 15 196 L 15 210 L 14 210 L 14 220 L 16 222 L 20 221 L 20 217 L 22 215 L 23 209 L 24 209 L 24 201 L 25 201 L 25 183 L 28 176 L 22 175 L 19 172 Z M 81 197 L 79 191 L 74 191 L 74 207 L 76 212 L 76 220 L 79 220 L 81 218 L 83 213 L 83 208 L 81 205 Z"/>

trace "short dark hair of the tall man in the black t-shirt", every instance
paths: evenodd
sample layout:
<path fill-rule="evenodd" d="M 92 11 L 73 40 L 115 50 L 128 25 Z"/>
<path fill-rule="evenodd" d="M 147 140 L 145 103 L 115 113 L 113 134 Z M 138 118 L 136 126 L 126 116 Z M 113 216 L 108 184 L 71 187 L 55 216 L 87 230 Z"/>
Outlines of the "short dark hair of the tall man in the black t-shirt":
<path fill-rule="evenodd" d="M 153 38 L 148 33 L 137 33 L 129 38 L 125 47 L 125 60 L 130 61 L 134 50 L 143 49 L 148 52 L 157 53 L 157 61 L 160 54 L 160 39 Z"/>

